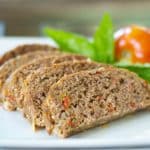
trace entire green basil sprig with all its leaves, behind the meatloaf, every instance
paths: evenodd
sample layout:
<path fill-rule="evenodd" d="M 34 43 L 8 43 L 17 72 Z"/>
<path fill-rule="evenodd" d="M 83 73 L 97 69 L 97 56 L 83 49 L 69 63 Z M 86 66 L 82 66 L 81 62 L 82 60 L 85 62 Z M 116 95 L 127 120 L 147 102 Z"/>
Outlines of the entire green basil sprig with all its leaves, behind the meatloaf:
<path fill-rule="evenodd" d="M 143 79 L 150 81 L 150 64 L 126 64 L 116 62 L 113 23 L 109 14 L 105 14 L 102 17 L 92 40 L 82 35 L 50 27 L 44 28 L 44 34 L 53 39 L 61 51 L 81 54 L 98 62 L 126 68 L 137 73 Z"/>

